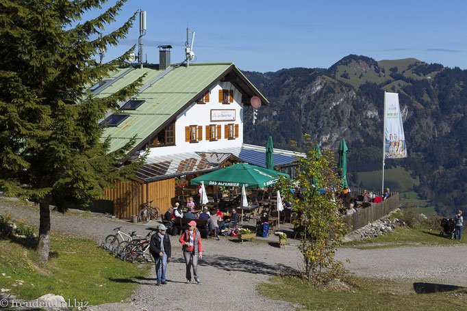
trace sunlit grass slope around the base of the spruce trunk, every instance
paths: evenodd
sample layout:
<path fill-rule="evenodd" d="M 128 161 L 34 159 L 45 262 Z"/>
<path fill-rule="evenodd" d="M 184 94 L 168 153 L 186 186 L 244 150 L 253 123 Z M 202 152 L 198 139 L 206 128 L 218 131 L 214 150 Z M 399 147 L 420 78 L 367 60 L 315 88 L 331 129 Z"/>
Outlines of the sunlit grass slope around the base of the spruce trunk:
<path fill-rule="evenodd" d="M 0 287 L 21 299 L 36 299 L 47 293 L 64 299 L 89 301 L 92 305 L 121 302 L 144 279 L 151 265 L 138 267 L 123 262 L 97 247 L 94 241 L 53 233 L 47 266 L 40 264 L 36 241 L 0 240 Z M 13 286 L 17 280 L 25 283 Z"/>

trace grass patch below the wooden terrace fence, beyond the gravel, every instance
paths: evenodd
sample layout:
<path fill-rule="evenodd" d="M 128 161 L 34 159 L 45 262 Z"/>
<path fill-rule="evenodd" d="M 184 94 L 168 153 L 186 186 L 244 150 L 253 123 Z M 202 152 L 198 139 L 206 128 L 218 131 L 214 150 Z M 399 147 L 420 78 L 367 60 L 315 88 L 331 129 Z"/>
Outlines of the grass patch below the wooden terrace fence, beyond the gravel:
<path fill-rule="evenodd" d="M 427 246 L 427 245 L 466 245 L 465 239 L 456 241 L 448 236 L 440 236 L 440 230 L 429 230 L 425 226 L 418 225 L 414 228 L 396 227 L 388 234 L 376 238 L 364 239 L 362 241 L 351 241 L 344 243 L 344 247 L 357 247 L 360 249 L 383 248 L 394 246 Z"/>

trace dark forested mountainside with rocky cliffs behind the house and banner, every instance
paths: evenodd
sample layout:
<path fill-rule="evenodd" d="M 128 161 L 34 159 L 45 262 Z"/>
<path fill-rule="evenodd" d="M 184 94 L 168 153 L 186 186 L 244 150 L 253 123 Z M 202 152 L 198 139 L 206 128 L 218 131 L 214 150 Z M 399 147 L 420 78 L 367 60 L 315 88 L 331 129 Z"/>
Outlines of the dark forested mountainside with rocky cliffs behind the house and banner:
<path fill-rule="evenodd" d="M 291 149 L 290 141 L 312 135 L 320 146 L 349 146 L 349 178 L 381 170 L 383 94 L 398 92 L 408 157 L 386 161 L 420 178 L 415 186 L 438 213 L 467 211 L 467 70 L 444 68 L 417 59 L 375 61 L 349 55 L 327 70 L 291 68 L 277 72 L 244 72 L 270 101 L 261 107 L 256 125 L 245 112 L 245 142 Z"/>

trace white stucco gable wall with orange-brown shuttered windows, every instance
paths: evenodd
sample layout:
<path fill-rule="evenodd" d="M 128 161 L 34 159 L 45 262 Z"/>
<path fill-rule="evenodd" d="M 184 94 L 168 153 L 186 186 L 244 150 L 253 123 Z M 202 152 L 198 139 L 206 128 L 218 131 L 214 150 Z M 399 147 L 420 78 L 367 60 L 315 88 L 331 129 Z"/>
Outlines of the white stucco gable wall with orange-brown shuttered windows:
<path fill-rule="evenodd" d="M 219 90 L 234 90 L 234 103 L 219 103 Z M 235 121 L 211 122 L 211 109 L 235 109 Z M 226 139 L 225 124 L 238 124 L 238 137 Z M 220 139 L 217 141 L 206 140 L 206 127 L 210 124 L 220 125 Z M 196 143 L 185 141 L 185 127 L 190 125 L 203 126 L 203 140 Z M 177 116 L 175 122 L 175 146 L 151 148 L 149 157 L 157 157 L 167 154 L 206 151 L 216 148 L 242 146 L 243 143 L 243 105 L 242 94 L 230 82 L 219 82 L 210 89 L 210 101 L 205 104 L 192 103 L 185 111 Z"/>

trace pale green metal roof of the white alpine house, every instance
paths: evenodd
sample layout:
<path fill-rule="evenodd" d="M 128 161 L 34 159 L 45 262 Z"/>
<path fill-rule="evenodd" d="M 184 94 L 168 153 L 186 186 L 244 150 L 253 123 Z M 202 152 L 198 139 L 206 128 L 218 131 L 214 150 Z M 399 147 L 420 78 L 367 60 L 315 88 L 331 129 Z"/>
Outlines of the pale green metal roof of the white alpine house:
<path fill-rule="evenodd" d="M 136 145 L 142 143 L 144 139 L 162 126 L 164 122 L 171 119 L 177 111 L 192 103 L 196 99 L 196 96 L 199 96 L 203 91 L 205 92 L 207 87 L 218 81 L 219 77 L 223 76 L 231 66 L 235 68 L 233 63 L 200 63 L 190 64 L 188 68 L 186 66 L 172 68 L 166 75 L 155 81 L 155 83 L 134 98 L 146 100 L 138 109 L 121 110 L 120 113 L 129 114 L 129 118 L 118 124 L 118 126 L 110 126 L 105 129 L 103 139 L 111 137 L 110 152 L 123 147 L 135 135 L 137 135 Z M 123 70 L 127 70 L 127 68 Z M 123 72 L 122 70 L 116 73 L 112 72 L 112 77 L 115 79 L 115 77 L 118 77 Z M 123 77 L 113 81 L 97 96 L 101 97 L 113 94 L 121 89 L 121 87 L 144 75 L 144 73 L 147 73 L 147 76 L 144 77 L 142 83 L 146 85 L 161 75 L 162 72 L 164 70 L 155 70 L 153 68 L 128 70 Z M 255 91 L 257 90 L 255 89 Z M 257 93 L 264 98 L 259 91 Z"/>

